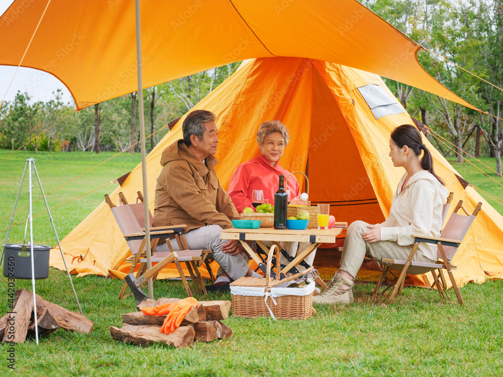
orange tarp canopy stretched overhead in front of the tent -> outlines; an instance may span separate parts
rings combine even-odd
[[[0,18],[0,64],[22,61],[49,72],[77,110],[137,90],[134,2],[46,5],[17,0]],[[238,60],[297,56],[389,77],[473,109],[421,67],[420,45],[356,0],[143,0],[140,10],[144,87]]]

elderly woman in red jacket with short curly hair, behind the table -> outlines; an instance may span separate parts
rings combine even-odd
[[[245,207],[252,207],[251,193],[254,190],[262,190],[264,198],[274,204],[274,193],[278,190],[280,174],[283,174],[285,178],[290,174],[279,164],[289,139],[288,130],[280,121],[267,121],[260,125],[257,142],[261,154],[239,165],[229,182],[228,193],[239,213],[242,213]],[[290,175],[285,189],[290,190],[291,198],[300,194],[299,182],[295,176]],[[297,253],[298,242],[281,242],[280,244],[290,255],[295,256]],[[300,245],[301,249],[306,246],[307,244],[304,245],[304,243]],[[307,263],[312,264],[315,251],[305,259]],[[286,262],[286,259],[282,258],[282,263]]]

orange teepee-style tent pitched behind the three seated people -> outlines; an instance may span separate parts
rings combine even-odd
[[[219,144],[217,173],[227,187],[235,167],[256,157],[256,132],[266,120],[278,119],[290,130],[290,143],[281,164],[290,171],[305,171],[310,200],[330,203],[340,221],[381,222],[389,214],[391,198],[403,169],[388,157],[389,135],[394,127],[412,120],[382,79],[368,72],[304,58],[262,58],[244,62],[239,69],[203,99],[195,109],[217,114]],[[162,150],[182,137],[184,117],[147,156],[149,207],[153,211],[155,178]],[[463,188],[456,171],[432,150],[435,170],[446,181],[454,200],[468,208],[482,202],[454,263],[459,285],[503,273],[503,218],[471,187]],[[302,180],[299,177],[299,180]],[[111,195],[117,201],[141,190],[138,165]],[[102,203],[61,242],[66,262],[80,274],[107,274],[119,266],[126,271],[129,251],[106,203]],[[86,255],[72,263],[73,256]],[[95,261],[95,262],[94,262]],[[51,265],[64,268],[58,250]],[[163,270],[164,276],[174,276]],[[422,284],[421,281],[416,281]]]

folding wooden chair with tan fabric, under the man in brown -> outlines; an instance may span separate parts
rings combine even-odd
[[[137,264],[140,263],[138,272],[136,274],[136,281],[143,284],[147,279],[153,277],[155,280],[157,273],[167,264],[174,262],[177,270],[182,279],[182,283],[187,292],[188,296],[192,296],[189,285],[185,278],[185,274],[180,266],[180,262],[186,262],[187,269],[192,277],[194,287],[196,291],[200,294],[206,294],[206,288],[203,284],[201,274],[198,269],[196,261],[206,262],[208,253],[211,250],[190,250],[187,246],[185,238],[183,238],[183,228],[185,225],[169,226],[169,227],[150,227],[150,239],[151,239],[151,261],[156,263],[151,269],[147,269],[147,259],[145,253],[145,228],[144,226],[144,213],[143,213],[143,196],[138,192],[138,197],[136,198],[136,203],[128,204],[126,198],[122,193],[119,193],[119,206],[115,206],[108,195],[105,195],[105,200],[109,205],[115,220],[117,221],[119,228],[122,231],[124,238],[126,238],[129,249],[131,250],[132,256],[126,259],[131,262],[129,273],[133,273]],[[140,202],[138,203],[138,200]],[[152,215],[149,212],[149,223],[152,224]],[[160,238],[167,239],[167,245],[169,246],[169,251],[155,251]],[[171,245],[170,238],[177,239],[181,251],[175,252],[173,246]],[[115,267],[117,268],[117,267]],[[195,273],[193,271],[195,270]],[[127,283],[124,284],[122,290],[119,294],[119,299],[124,297],[127,289]]]

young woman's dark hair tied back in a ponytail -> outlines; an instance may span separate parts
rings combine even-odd
[[[433,157],[432,153],[428,150],[425,144],[423,144],[423,139],[421,138],[420,131],[409,124],[402,124],[396,127],[391,133],[391,139],[398,146],[398,148],[403,148],[404,145],[409,147],[416,156],[424,152],[423,158],[421,159],[421,167],[428,170],[432,175],[438,179],[440,183],[445,185],[444,180],[435,174],[433,169]]]

